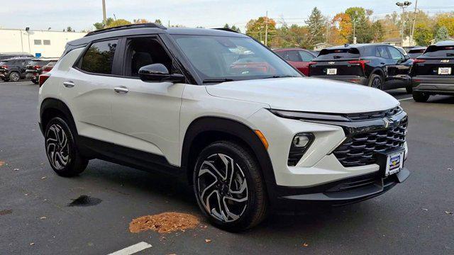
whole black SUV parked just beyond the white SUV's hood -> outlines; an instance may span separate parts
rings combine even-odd
[[[410,87],[411,60],[397,48],[382,44],[358,44],[321,50],[309,64],[309,76],[348,81],[376,89]]]

